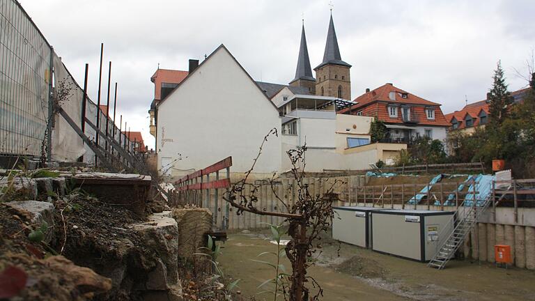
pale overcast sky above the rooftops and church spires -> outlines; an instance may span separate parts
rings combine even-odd
[[[118,82],[119,114],[148,146],[150,76],[160,68],[187,70],[226,45],[251,77],[288,83],[295,75],[301,20],[311,65],[323,59],[329,1],[22,0],[79,84],[89,63],[96,102],[100,43]],[[534,0],[334,0],[342,59],[352,65],[352,98],[392,82],[439,102],[449,113],[485,98],[502,60],[510,91],[527,86],[526,60],[535,48]],[[105,92],[102,93],[105,100]],[[208,108],[207,108],[208,109]]]

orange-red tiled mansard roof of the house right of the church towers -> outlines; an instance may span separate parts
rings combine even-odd
[[[396,93],[396,100],[390,100],[389,93]],[[406,98],[402,96],[406,95]],[[398,117],[392,118],[388,113],[388,105],[410,105],[411,118],[413,121],[417,121],[418,125],[435,125],[435,126],[450,126],[451,124],[444,118],[440,104],[431,102],[420,98],[417,95],[403,91],[401,88],[397,88],[392,84],[384,84],[379,88],[375,88],[372,91],[366,92],[359,97],[355,98],[357,105],[353,105],[351,108],[342,109],[339,113],[357,114],[362,111],[362,116],[377,116],[380,121],[385,123],[404,123],[401,111],[398,111]],[[426,115],[426,108],[432,107],[435,109],[435,119],[428,119]]]

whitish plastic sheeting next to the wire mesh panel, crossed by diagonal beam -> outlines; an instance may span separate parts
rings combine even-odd
[[[59,105],[72,118],[73,121],[82,127],[82,91],[72,79],[61,59],[54,53],[54,84],[55,88],[64,87],[68,91],[67,99]],[[52,159],[60,162],[74,162],[84,155],[84,142],[82,138],[65,121],[65,118],[56,114],[54,118],[54,128],[52,130]]]

